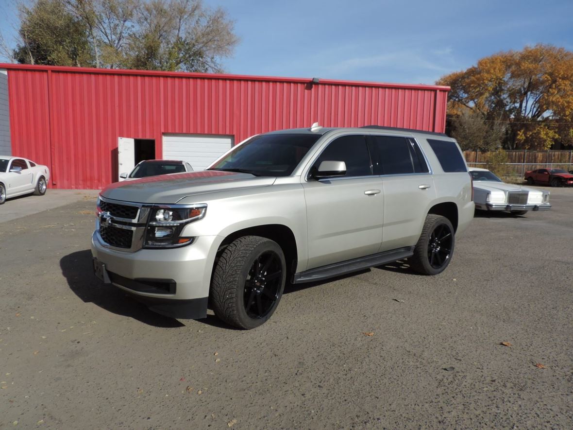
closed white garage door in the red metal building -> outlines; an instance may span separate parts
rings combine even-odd
[[[233,136],[164,134],[163,159],[183,160],[193,170],[205,170],[233,146]]]

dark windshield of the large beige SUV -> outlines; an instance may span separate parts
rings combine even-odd
[[[264,134],[238,146],[209,170],[289,176],[320,138],[316,134]]]

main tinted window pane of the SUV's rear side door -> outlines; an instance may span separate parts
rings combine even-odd
[[[381,166],[376,174],[397,175],[414,173],[410,142],[397,136],[370,136],[374,151],[378,153]]]

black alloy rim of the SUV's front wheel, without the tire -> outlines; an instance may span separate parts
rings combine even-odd
[[[245,311],[250,318],[260,319],[269,314],[278,300],[281,280],[281,259],[276,252],[264,252],[253,261],[243,294]]]

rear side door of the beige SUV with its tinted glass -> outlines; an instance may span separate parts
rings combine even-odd
[[[374,173],[384,190],[379,251],[415,245],[436,195],[426,159],[418,143],[406,136],[371,135],[368,140]]]

